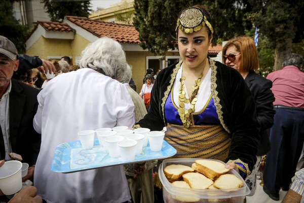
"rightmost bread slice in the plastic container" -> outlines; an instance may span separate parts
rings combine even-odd
[[[234,189],[242,187],[243,181],[234,174],[224,174],[214,181],[213,185],[218,189]]]

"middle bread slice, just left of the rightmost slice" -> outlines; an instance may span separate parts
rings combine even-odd
[[[213,184],[212,180],[200,173],[186,173],[182,175],[182,179],[193,189],[208,189]]]

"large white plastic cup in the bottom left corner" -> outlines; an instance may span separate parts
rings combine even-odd
[[[0,189],[5,195],[15,194],[22,188],[22,163],[17,160],[6,161],[0,167]]]

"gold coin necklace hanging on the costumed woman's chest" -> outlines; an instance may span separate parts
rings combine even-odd
[[[206,65],[205,65],[206,66]],[[199,77],[196,79],[194,86],[192,87],[192,94],[191,97],[186,98],[185,96],[185,90],[184,90],[184,84],[185,84],[185,77],[182,75],[181,72],[181,78],[180,78],[180,88],[178,89],[178,115],[180,116],[181,122],[182,124],[188,128],[190,125],[193,125],[194,123],[191,122],[191,118],[190,118],[190,114],[194,113],[195,111],[195,104],[198,100],[198,98],[196,98],[196,95],[199,92],[200,89],[200,85],[202,84],[201,79],[203,77],[203,72],[205,70],[205,66],[204,69],[202,71],[202,73],[199,75]],[[188,110],[185,110],[185,104],[189,104],[190,103],[190,108]]]

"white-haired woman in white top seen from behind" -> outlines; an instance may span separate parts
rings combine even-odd
[[[79,131],[134,124],[134,104],[118,82],[130,69],[122,46],[101,38],[82,55],[80,70],[58,75],[37,96],[34,128],[42,143],[34,185],[47,202],[126,202],[131,196],[122,165],[70,174],[50,169],[56,146],[78,140]],[[145,167],[137,164],[136,172]]]

